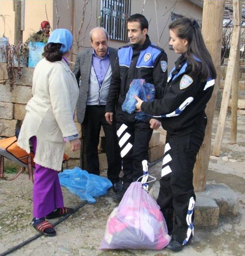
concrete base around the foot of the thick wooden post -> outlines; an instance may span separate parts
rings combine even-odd
[[[159,182],[155,182],[149,194],[157,200]],[[219,217],[236,216],[238,212],[237,195],[225,184],[207,184],[203,192],[196,192],[195,219],[196,227],[214,227],[219,224]]]

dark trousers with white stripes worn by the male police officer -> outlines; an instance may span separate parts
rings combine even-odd
[[[149,122],[137,121],[121,109],[117,112],[116,121],[123,159],[123,182],[129,185],[143,175],[142,161],[149,161],[148,148],[153,130]]]

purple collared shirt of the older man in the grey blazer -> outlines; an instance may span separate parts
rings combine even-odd
[[[99,85],[103,83],[103,80],[106,76],[107,70],[110,65],[109,59],[109,48],[106,55],[103,58],[100,58],[96,55],[95,50],[93,50],[92,64],[95,70],[96,77],[98,79]]]

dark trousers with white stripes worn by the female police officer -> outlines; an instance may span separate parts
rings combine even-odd
[[[203,142],[206,119],[194,132],[176,137],[167,134],[163,155],[162,178],[157,203],[167,222],[172,239],[187,243],[193,236],[193,168]],[[173,212],[175,220],[173,223]]]

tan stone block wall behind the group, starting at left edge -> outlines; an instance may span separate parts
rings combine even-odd
[[[13,89],[7,74],[7,63],[0,63],[0,139],[15,135],[16,129],[21,126],[25,115],[26,103],[31,98],[31,86],[33,68],[21,68],[22,76],[15,78]],[[16,70],[17,73],[17,70]],[[75,124],[79,132],[79,138],[82,138],[81,125],[75,117]],[[150,162],[153,162],[163,156],[163,147],[165,144],[165,132],[163,130],[154,130],[149,145]],[[100,143],[98,145],[100,168],[107,168],[105,154],[105,134],[101,127]],[[70,144],[67,143],[65,153],[69,155],[68,167],[80,166],[80,150],[70,151]]]

